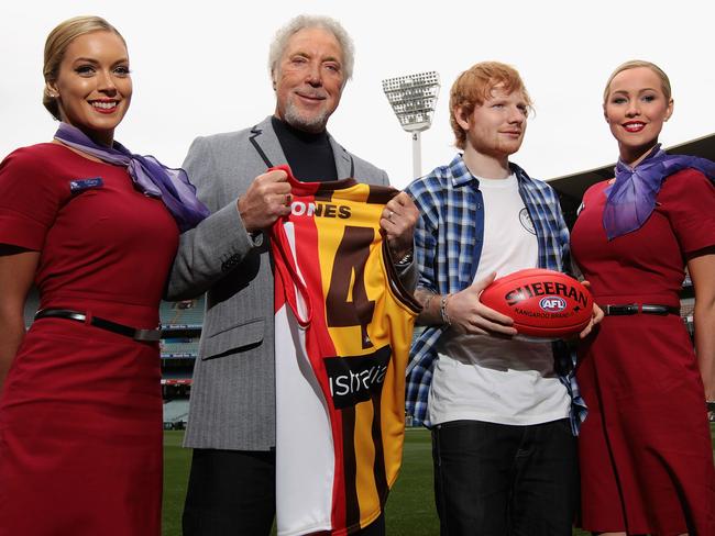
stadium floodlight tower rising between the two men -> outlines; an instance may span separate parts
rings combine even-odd
[[[402,127],[413,135],[413,175],[422,175],[420,134],[432,125],[439,96],[439,75],[435,70],[383,80],[383,91]]]

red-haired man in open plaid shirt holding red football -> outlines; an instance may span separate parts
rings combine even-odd
[[[569,232],[553,190],[509,157],[531,105],[519,74],[490,62],[454,82],[450,120],[462,150],[407,189],[417,298],[407,410],[432,431],[442,535],[570,535],[578,503],[574,431],[583,416],[568,351],[515,338],[480,303],[495,276],[563,271]]]

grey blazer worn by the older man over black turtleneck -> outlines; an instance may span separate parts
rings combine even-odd
[[[387,174],[330,137],[339,178],[387,185]],[[267,450],[275,445],[273,273],[268,241],[255,241],[237,200],[286,158],[271,118],[252,129],[197,138],[184,168],[211,215],[184,233],[167,299],[207,292],[185,446]]]

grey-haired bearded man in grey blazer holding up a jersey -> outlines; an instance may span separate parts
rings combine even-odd
[[[184,168],[211,216],[182,236],[168,299],[207,292],[185,446],[194,448],[185,536],[267,535],[275,514],[273,273],[262,230],[289,213],[289,164],[299,179],[388,183],[326,131],[352,74],[352,43],[329,18],[298,16],[271,47],[276,110],[250,129],[199,137]],[[400,193],[384,228],[410,279],[418,213]],[[405,268],[407,267],[407,268]],[[409,284],[409,281],[408,281]],[[384,521],[363,531],[383,534]]]

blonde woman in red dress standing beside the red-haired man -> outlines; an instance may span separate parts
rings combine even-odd
[[[668,76],[649,62],[614,71],[603,111],[618,143],[616,177],[586,191],[571,235],[605,313],[579,348],[588,405],[579,438],[581,525],[713,536],[715,164],[660,148],[673,99]],[[680,317],[685,269],[694,348]]]

